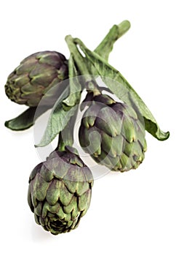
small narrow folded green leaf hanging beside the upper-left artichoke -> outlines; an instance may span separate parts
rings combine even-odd
[[[76,70],[73,56],[71,55],[68,60],[68,76],[69,76],[69,84],[70,84],[70,94],[69,96],[63,100],[63,104],[68,107],[73,107],[78,104],[81,97],[81,83],[79,82],[79,74]],[[64,108],[65,108],[64,106]]]

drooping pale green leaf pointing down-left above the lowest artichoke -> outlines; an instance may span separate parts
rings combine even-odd
[[[63,91],[63,94],[60,95],[60,98],[55,103],[52,113],[49,117],[47,128],[44,132],[41,141],[36,147],[47,146],[49,143],[54,140],[56,135],[58,135],[68,124],[68,121],[71,119],[71,116],[74,115],[77,106],[71,108],[70,110],[64,110],[63,108],[63,99],[68,96],[69,88],[66,88]]]

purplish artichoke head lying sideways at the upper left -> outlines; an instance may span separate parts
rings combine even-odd
[[[56,51],[41,51],[28,56],[8,76],[7,97],[18,104],[36,107],[44,94],[68,78],[68,61]]]

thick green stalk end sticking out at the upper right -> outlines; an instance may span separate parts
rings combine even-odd
[[[109,53],[111,53],[111,50],[113,50],[114,42],[116,42],[117,39],[122,37],[123,34],[125,34],[130,29],[130,21],[124,20],[119,25],[114,25],[106,37],[103,39],[102,42],[100,42],[100,45],[98,45],[97,48],[95,48],[95,53],[98,53],[103,59],[106,59],[108,61]]]

